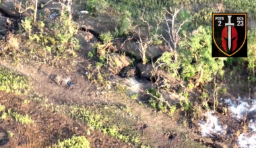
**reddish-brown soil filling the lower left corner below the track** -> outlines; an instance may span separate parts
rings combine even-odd
[[[90,147],[132,147],[98,131],[88,135],[88,128],[76,120],[46,110],[34,102],[22,104],[24,100],[26,98],[21,96],[0,92],[0,104],[20,114],[28,114],[34,120],[34,124],[26,125],[12,118],[1,119],[1,147],[50,147],[73,135],[84,135],[90,141]],[[7,131],[13,133],[13,137],[8,138]]]

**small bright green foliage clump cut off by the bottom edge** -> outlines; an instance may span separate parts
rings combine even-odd
[[[65,139],[64,141],[59,141],[58,145],[53,145],[50,148],[90,148],[90,142],[84,136],[75,136],[71,139]]]

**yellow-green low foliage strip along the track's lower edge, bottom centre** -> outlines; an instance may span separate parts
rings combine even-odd
[[[68,109],[65,108],[62,112],[67,112],[67,114],[73,118],[82,120],[90,128],[101,130],[103,133],[120,139],[121,141],[135,143],[135,145],[139,144],[137,133],[134,133],[134,131],[125,126],[117,126],[117,124],[122,125],[124,124],[123,122],[127,122],[127,118],[125,118],[124,121],[121,120],[123,111],[121,112],[122,115],[120,115],[119,108],[102,108],[102,112],[100,110],[101,109],[98,108],[98,110],[92,111],[84,106],[69,106]],[[122,122],[122,124],[117,122]]]

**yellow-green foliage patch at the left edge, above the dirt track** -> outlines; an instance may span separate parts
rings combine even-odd
[[[0,67],[0,91],[14,94],[26,94],[31,83],[28,77]]]

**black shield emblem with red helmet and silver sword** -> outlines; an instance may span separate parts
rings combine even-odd
[[[212,13],[212,57],[247,57],[247,13]]]

